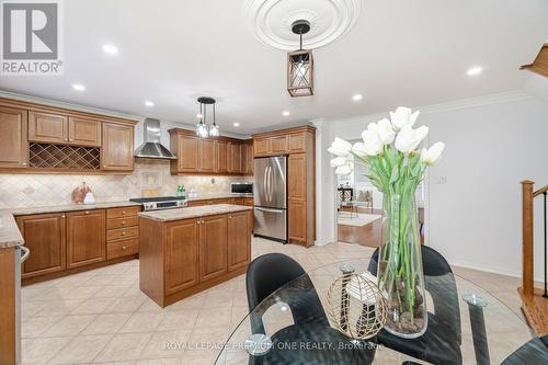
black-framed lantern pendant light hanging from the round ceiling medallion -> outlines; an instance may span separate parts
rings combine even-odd
[[[310,31],[310,23],[298,20],[292,24],[292,31],[300,37],[298,50],[287,54],[287,91],[292,98],[313,95],[312,50],[302,49],[302,34]]]

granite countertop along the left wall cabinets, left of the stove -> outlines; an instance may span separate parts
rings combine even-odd
[[[91,209],[106,209],[123,206],[140,206],[139,203],[129,201],[125,202],[109,202],[96,203],[88,205],[54,205],[54,206],[38,206],[30,208],[5,208],[0,209],[0,249],[10,248],[18,244],[24,244],[23,237],[19,231],[18,224],[14,216],[23,216],[30,214],[44,214],[44,213],[60,213],[60,212],[76,212],[76,210],[91,210]]]

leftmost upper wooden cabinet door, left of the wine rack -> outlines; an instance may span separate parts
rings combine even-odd
[[[0,168],[26,168],[26,116],[25,110],[0,106]]]

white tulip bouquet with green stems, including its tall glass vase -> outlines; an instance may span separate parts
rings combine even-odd
[[[385,196],[388,219],[377,276],[389,306],[385,328],[404,338],[421,335],[427,324],[414,195],[424,171],[439,161],[445,148],[438,141],[421,150],[429,128],[413,128],[419,114],[400,106],[390,112],[390,119],[370,123],[362,133],[363,141],[352,145],[335,138],[329,148],[336,174],[350,174],[354,162],[364,163],[366,176]]]

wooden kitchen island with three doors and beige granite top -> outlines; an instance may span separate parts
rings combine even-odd
[[[160,307],[246,272],[252,208],[216,204],[139,213],[139,286]]]

